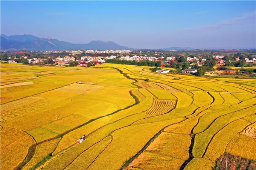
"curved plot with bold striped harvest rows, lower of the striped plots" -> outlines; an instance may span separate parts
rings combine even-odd
[[[146,111],[146,117],[158,116],[161,114],[168,113],[175,106],[175,100],[158,100],[155,99],[151,108]]]

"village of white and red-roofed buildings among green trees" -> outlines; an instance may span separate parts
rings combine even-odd
[[[30,55],[32,53],[33,55]],[[44,51],[40,55],[34,55],[38,52],[15,52],[8,56],[6,62],[10,64],[23,63],[29,65],[52,65],[52,66],[84,66],[90,67],[104,63],[119,63],[128,65],[142,65],[151,63],[148,66],[156,66],[154,72],[169,73],[170,68],[176,69],[179,74],[194,74],[202,76],[216,76],[221,74],[238,73],[235,67],[255,66],[255,55],[246,57],[244,54],[233,54],[232,57],[227,55],[210,55],[204,53],[190,54],[176,51],[176,53],[166,51],[132,51],[132,50],[77,50],[77,51]],[[50,56],[49,54],[53,55]],[[59,54],[59,55],[58,55]],[[61,55],[64,54],[64,55]],[[37,57],[33,57],[37,56]],[[227,66],[227,67],[226,67]],[[231,66],[230,69],[229,66]],[[233,66],[233,67],[232,67]],[[213,69],[215,67],[215,69]],[[160,69],[161,68],[161,69]],[[203,68],[200,70],[200,68]],[[216,68],[222,71],[217,71]],[[241,71],[240,71],[241,72]],[[250,71],[251,72],[251,71]],[[254,72],[254,71],[253,71]],[[253,73],[251,72],[251,73]],[[173,73],[173,72],[172,72]]]

